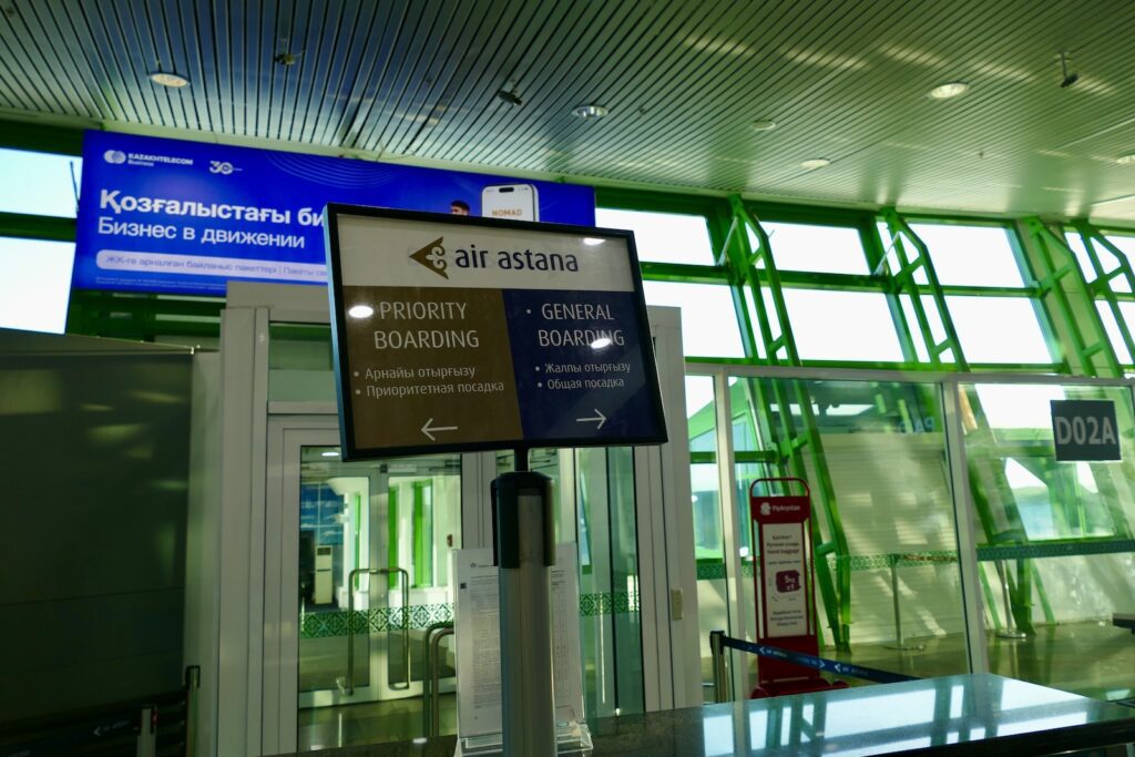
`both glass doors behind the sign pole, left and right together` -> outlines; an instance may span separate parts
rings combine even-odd
[[[280,481],[284,598],[279,716],[264,727],[280,734],[280,749],[299,751],[424,735],[426,645],[432,629],[453,620],[451,553],[491,545],[489,482],[512,470],[512,453],[346,463],[334,417],[294,422],[309,427],[279,419],[270,430],[278,439],[269,470]],[[578,545],[587,717],[644,712],[651,673],[640,606],[650,602],[644,591],[651,581],[639,569],[646,527],[636,496],[645,474],[636,454],[539,449],[530,464],[553,479],[556,540]],[[456,732],[454,650],[452,638],[442,642],[443,734]],[[269,663],[266,656],[266,670]]]

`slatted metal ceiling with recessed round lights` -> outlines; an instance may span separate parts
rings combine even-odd
[[[1135,3],[1117,0],[0,0],[0,109],[502,173],[1135,219],[1135,166],[1116,162],[1135,152],[1133,36]],[[948,81],[970,91],[926,96]],[[585,103],[609,115],[571,115]],[[800,167],[817,157],[832,165]]]

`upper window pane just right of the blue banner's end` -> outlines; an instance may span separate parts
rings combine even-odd
[[[595,222],[634,232],[641,261],[713,266],[713,244],[701,216],[596,208]]]

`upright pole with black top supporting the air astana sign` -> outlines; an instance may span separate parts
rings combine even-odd
[[[501,586],[501,682],[505,757],[556,754],[550,566],[555,564],[552,479],[528,470],[493,481],[493,548]]]

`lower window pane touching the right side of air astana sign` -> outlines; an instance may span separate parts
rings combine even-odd
[[[646,302],[682,309],[682,353],[689,358],[743,358],[733,292],[725,284],[642,281]]]

